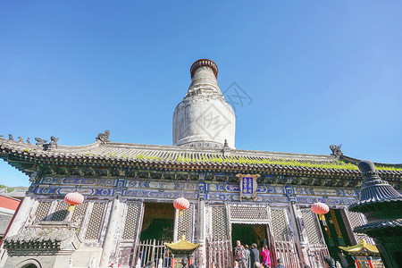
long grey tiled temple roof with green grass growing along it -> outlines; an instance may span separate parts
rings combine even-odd
[[[53,137],[54,138],[54,137]],[[46,141],[45,141],[46,142]],[[50,143],[51,144],[51,143]],[[28,144],[0,138],[0,157],[21,172],[34,172],[26,163],[86,163],[153,166],[183,170],[250,170],[338,177],[361,177],[353,163],[334,155],[310,155],[230,149],[228,147],[176,147],[110,142],[96,139],[84,146]],[[380,170],[386,178],[401,178],[402,171]]]

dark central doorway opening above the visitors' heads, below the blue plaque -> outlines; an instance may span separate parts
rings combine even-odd
[[[253,243],[257,244],[258,248],[262,248],[268,244],[268,224],[231,224],[231,243],[236,247],[236,241],[240,240],[241,245],[251,248]]]

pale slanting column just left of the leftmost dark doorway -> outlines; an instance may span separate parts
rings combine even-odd
[[[107,225],[107,230],[106,230],[105,240],[104,240],[104,247],[102,250],[99,267],[103,267],[103,266],[106,267],[109,264],[109,258],[110,258],[110,255],[112,252],[112,246],[113,246],[113,239],[116,235],[116,228],[118,226],[117,223],[120,220],[120,217],[119,217],[120,209],[121,209],[121,201],[120,201],[120,197],[117,196],[113,200],[112,212],[110,214],[109,224]]]

